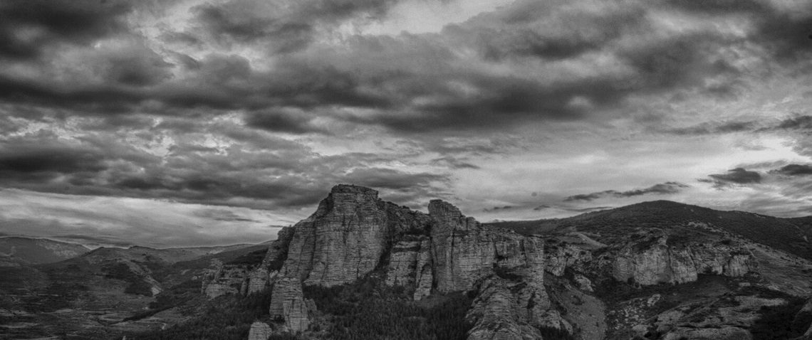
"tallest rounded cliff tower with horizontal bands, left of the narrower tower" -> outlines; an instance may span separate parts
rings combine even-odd
[[[294,226],[284,277],[335,286],[363,277],[378,265],[393,235],[421,230],[428,218],[378,199],[378,192],[333,187],[316,213]]]

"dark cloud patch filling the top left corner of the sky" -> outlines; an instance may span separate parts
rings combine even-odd
[[[0,56],[37,58],[57,42],[88,44],[126,30],[123,1],[30,0],[0,3]]]

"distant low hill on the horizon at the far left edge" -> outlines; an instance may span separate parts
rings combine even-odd
[[[0,266],[38,265],[58,262],[89,252],[81,244],[30,239],[25,237],[0,238]]]

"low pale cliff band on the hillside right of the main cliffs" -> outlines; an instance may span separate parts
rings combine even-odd
[[[655,285],[693,282],[699,273],[741,277],[754,269],[752,256],[738,247],[702,244],[672,247],[667,245],[667,236],[663,236],[645,249],[638,248],[638,244],[628,244],[620,250],[612,263],[612,277]]]

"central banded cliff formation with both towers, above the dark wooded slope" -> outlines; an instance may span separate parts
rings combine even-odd
[[[517,314],[516,325],[560,327],[562,323],[549,311],[542,239],[487,228],[442,200],[432,200],[425,214],[384,202],[372,189],[339,185],[316,213],[283,234],[280,239],[289,239],[287,250],[269,252],[266,257],[285,257],[271,279],[275,283],[270,309],[291,330],[307,328],[304,320],[309,316],[297,307],[304,306],[301,286],[342,285],[373,272],[380,273],[387,285],[403,286],[416,300],[433,291],[480,291],[480,286],[494,286],[482,280],[506,280],[500,276],[508,281],[520,278],[509,285],[512,289],[497,285],[490,290],[498,290],[496,296],[509,295],[512,306],[525,306]],[[252,281],[254,276],[265,278],[266,271],[271,275],[269,268],[264,263],[252,274]],[[491,300],[480,299],[480,305]],[[283,310],[286,303],[294,313]],[[472,313],[469,320],[487,328],[492,320],[487,315]]]

